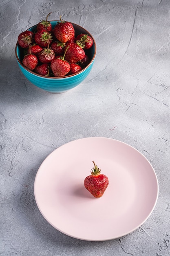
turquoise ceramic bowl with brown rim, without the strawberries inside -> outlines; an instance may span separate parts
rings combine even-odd
[[[57,24],[57,20],[50,21],[52,28],[55,27]],[[78,34],[88,34],[93,38],[93,36],[83,27],[80,27],[79,25],[76,25],[74,23],[73,27],[75,29],[75,36]],[[31,30],[35,32],[36,25],[29,28],[28,30]],[[42,90],[45,90],[47,92],[53,92],[53,93],[61,93],[61,92],[66,92],[75,86],[79,85],[82,83],[82,81],[88,76],[89,72],[91,71],[93,67],[93,63],[95,60],[95,55],[96,55],[96,43],[93,38],[93,46],[88,49],[88,53],[86,53],[90,59],[90,63],[84,69],[79,71],[76,74],[72,74],[69,76],[64,76],[64,77],[46,77],[46,76],[41,76],[39,74],[34,73],[33,71],[27,69],[23,64],[22,64],[22,58],[23,58],[23,49],[16,44],[15,47],[15,55],[17,58],[18,65],[20,67],[20,70],[26,76],[26,78],[33,83],[34,85],[38,86]]]

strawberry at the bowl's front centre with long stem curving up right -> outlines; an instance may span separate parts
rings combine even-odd
[[[66,48],[67,51],[68,48]],[[66,51],[63,57],[54,58],[51,61],[51,70],[56,77],[66,76],[70,72],[70,64],[64,60]]]

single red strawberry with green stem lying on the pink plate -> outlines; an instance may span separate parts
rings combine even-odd
[[[108,187],[108,177],[100,173],[101,170],[95,165],[95,162],[93,164],[91,175],[85,178],[84,186],[95,198],[100,198]]]

